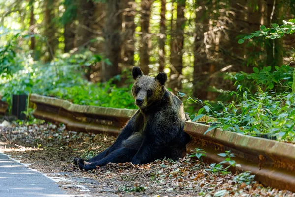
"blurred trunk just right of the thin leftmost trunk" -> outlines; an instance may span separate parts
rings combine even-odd
[[[50,62],[54,58],[55,47],[57,45],[55,33],[56,25],[54,22],[54,7],[55,0],[44,0],[44,25],[45,32],[44,35],[47,38],[46,40],[46,58],[45,62]]]

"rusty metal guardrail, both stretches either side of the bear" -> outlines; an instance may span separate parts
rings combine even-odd
[[[69,101],[32,94],[36,105],[33,115],[51,122],[64,123],[69,130],[118,134],[136,110],[82,106]],[[256,180],[266,186],[295,192],[295,144],[246,136],[215,129],[206,135],[209,126],[186,122],[184,131],[191,135],[187,152],[203,148],[207,163],[219,163],[225,158],[217,153],[230,150],[241,167],[232,170],[251,171]]]

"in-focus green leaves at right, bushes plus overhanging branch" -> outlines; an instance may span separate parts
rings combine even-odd
[[[262,31],[266,32],[262,35],[269,35],[270,39],[276,39],[281,38],[282,33],[294,33],[294,22],[293,19],[284,22],[282,26],[273,24],[274,28],[267,30],[262,27]],[[267,33],[268,31],[270,33]],[[244,39],[251,39],[253,36],[262,36],[259,33],[261,31],[252,33],[251,36],[246,36],[239,41],[243,42]],[[223,92],[230,96],[235,95],[237,101],[229,104],[218,102],[221,111],[214,109],[208,102],[189,97],[187,101],[201,105],[194,120],[204,116],[204,112],[205,115],[208,113],[217,119],[204,134],[215,128],[222,128],[237,133],[295,142],[295,94],[293,91],[291,93],[291,86],[293,90],[295,89],[292,78],[294,68],[283,65],[275,66],[275,70],[272,70],[271,66],[264,66],[262,69],[254,67],[253,71],[254,73],[240,72],[233,76],[237,91]],[[254,84],[256,93],[252,93],[250,86],[243,87],[242,84],[247,84],[247,80]]]

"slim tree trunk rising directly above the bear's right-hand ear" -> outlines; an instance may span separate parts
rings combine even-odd
[[[159,72],[165,68],[165,40],[166,40],[166,0],[161,0],[160,39],[159,39]]]

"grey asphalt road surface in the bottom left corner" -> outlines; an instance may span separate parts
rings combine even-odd
[[[0,197],[73,197],[58,184],[0,153]]]

